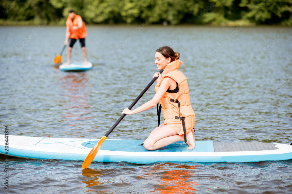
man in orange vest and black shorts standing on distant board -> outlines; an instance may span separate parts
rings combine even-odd
[[[70,64],[72,47],[74,43],[79,39],[82,47],[84,63],[87,64],[86,48],[85,48],[85,37],[87,35],[86,27],[80,15],[74,13],[74,10],[69,10],[69,16],[66,22],[66,38],[65,45],[68,44],[69,37],[71,38],[70,46],[68,49],[68,60],[67,64]]]

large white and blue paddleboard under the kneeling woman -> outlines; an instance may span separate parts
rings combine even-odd
[[[7,137],[7,136],[5,136]],[[84,161],[99,139],[48,138],[9,135],[8,141],[0,135],[0,152],[26,159],[61,159]],[[258,162],[292,159],[292,145],[260,142],[196,141],[193,150],[184,142],[176,142],[162,149],[148,151],[144,140],[106,139],[96,162]],[[5,143],[8,145],[5,145]],[[6,147],[5,147],[6,146]]]

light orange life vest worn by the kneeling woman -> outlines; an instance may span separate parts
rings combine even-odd
[[[171,122],[174,119],[180,119],[179,117],[184,117],[185,129],[186,133],[188,133],[195,125],[195,113],[192,109],[190,102],[190,93],[189,87],[187,85],[187,78],[181,71],[178,70],[181,63],[182,62],[180,60],[175,60],[165,67],[160,81],[155,86],[155,91],[158,91],[159,86],[161,85],[165,77],[170,77],[178,83],[178,92],[166,92],[159,102],[162,106],[164,124],[170,123],[171,127]],[[175,102],[176,100],[178,101]],[[178,108],[178,102],[180,102],[180,108]],[[179,135],[182,135],[184,134],[182,126],[183,125],[181,125],[181,129],[174,129],[173,127],[172,128]]]

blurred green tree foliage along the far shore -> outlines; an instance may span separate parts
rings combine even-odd
[[[87,24],[292,25],[292,0],[2,0],[0,24],[65,25],[69,9]]]

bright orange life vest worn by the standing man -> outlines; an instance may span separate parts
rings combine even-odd
[[[87,30],[86,30],[86,27],[85,27],[85,24],[83,21],[82,21],[82,28],[78,28],[76,30],[73,30],[73,26],[78,26],[78,19],[79,18],[81,18],[81,16],[77,15],[77,14],[75,14],[73,21],[72,21],[70,16],[68,16],[68,18],[67,18],[66,24],[69,27],[70,38],[73,38],[73,39],[85,38],[87,35]]]

